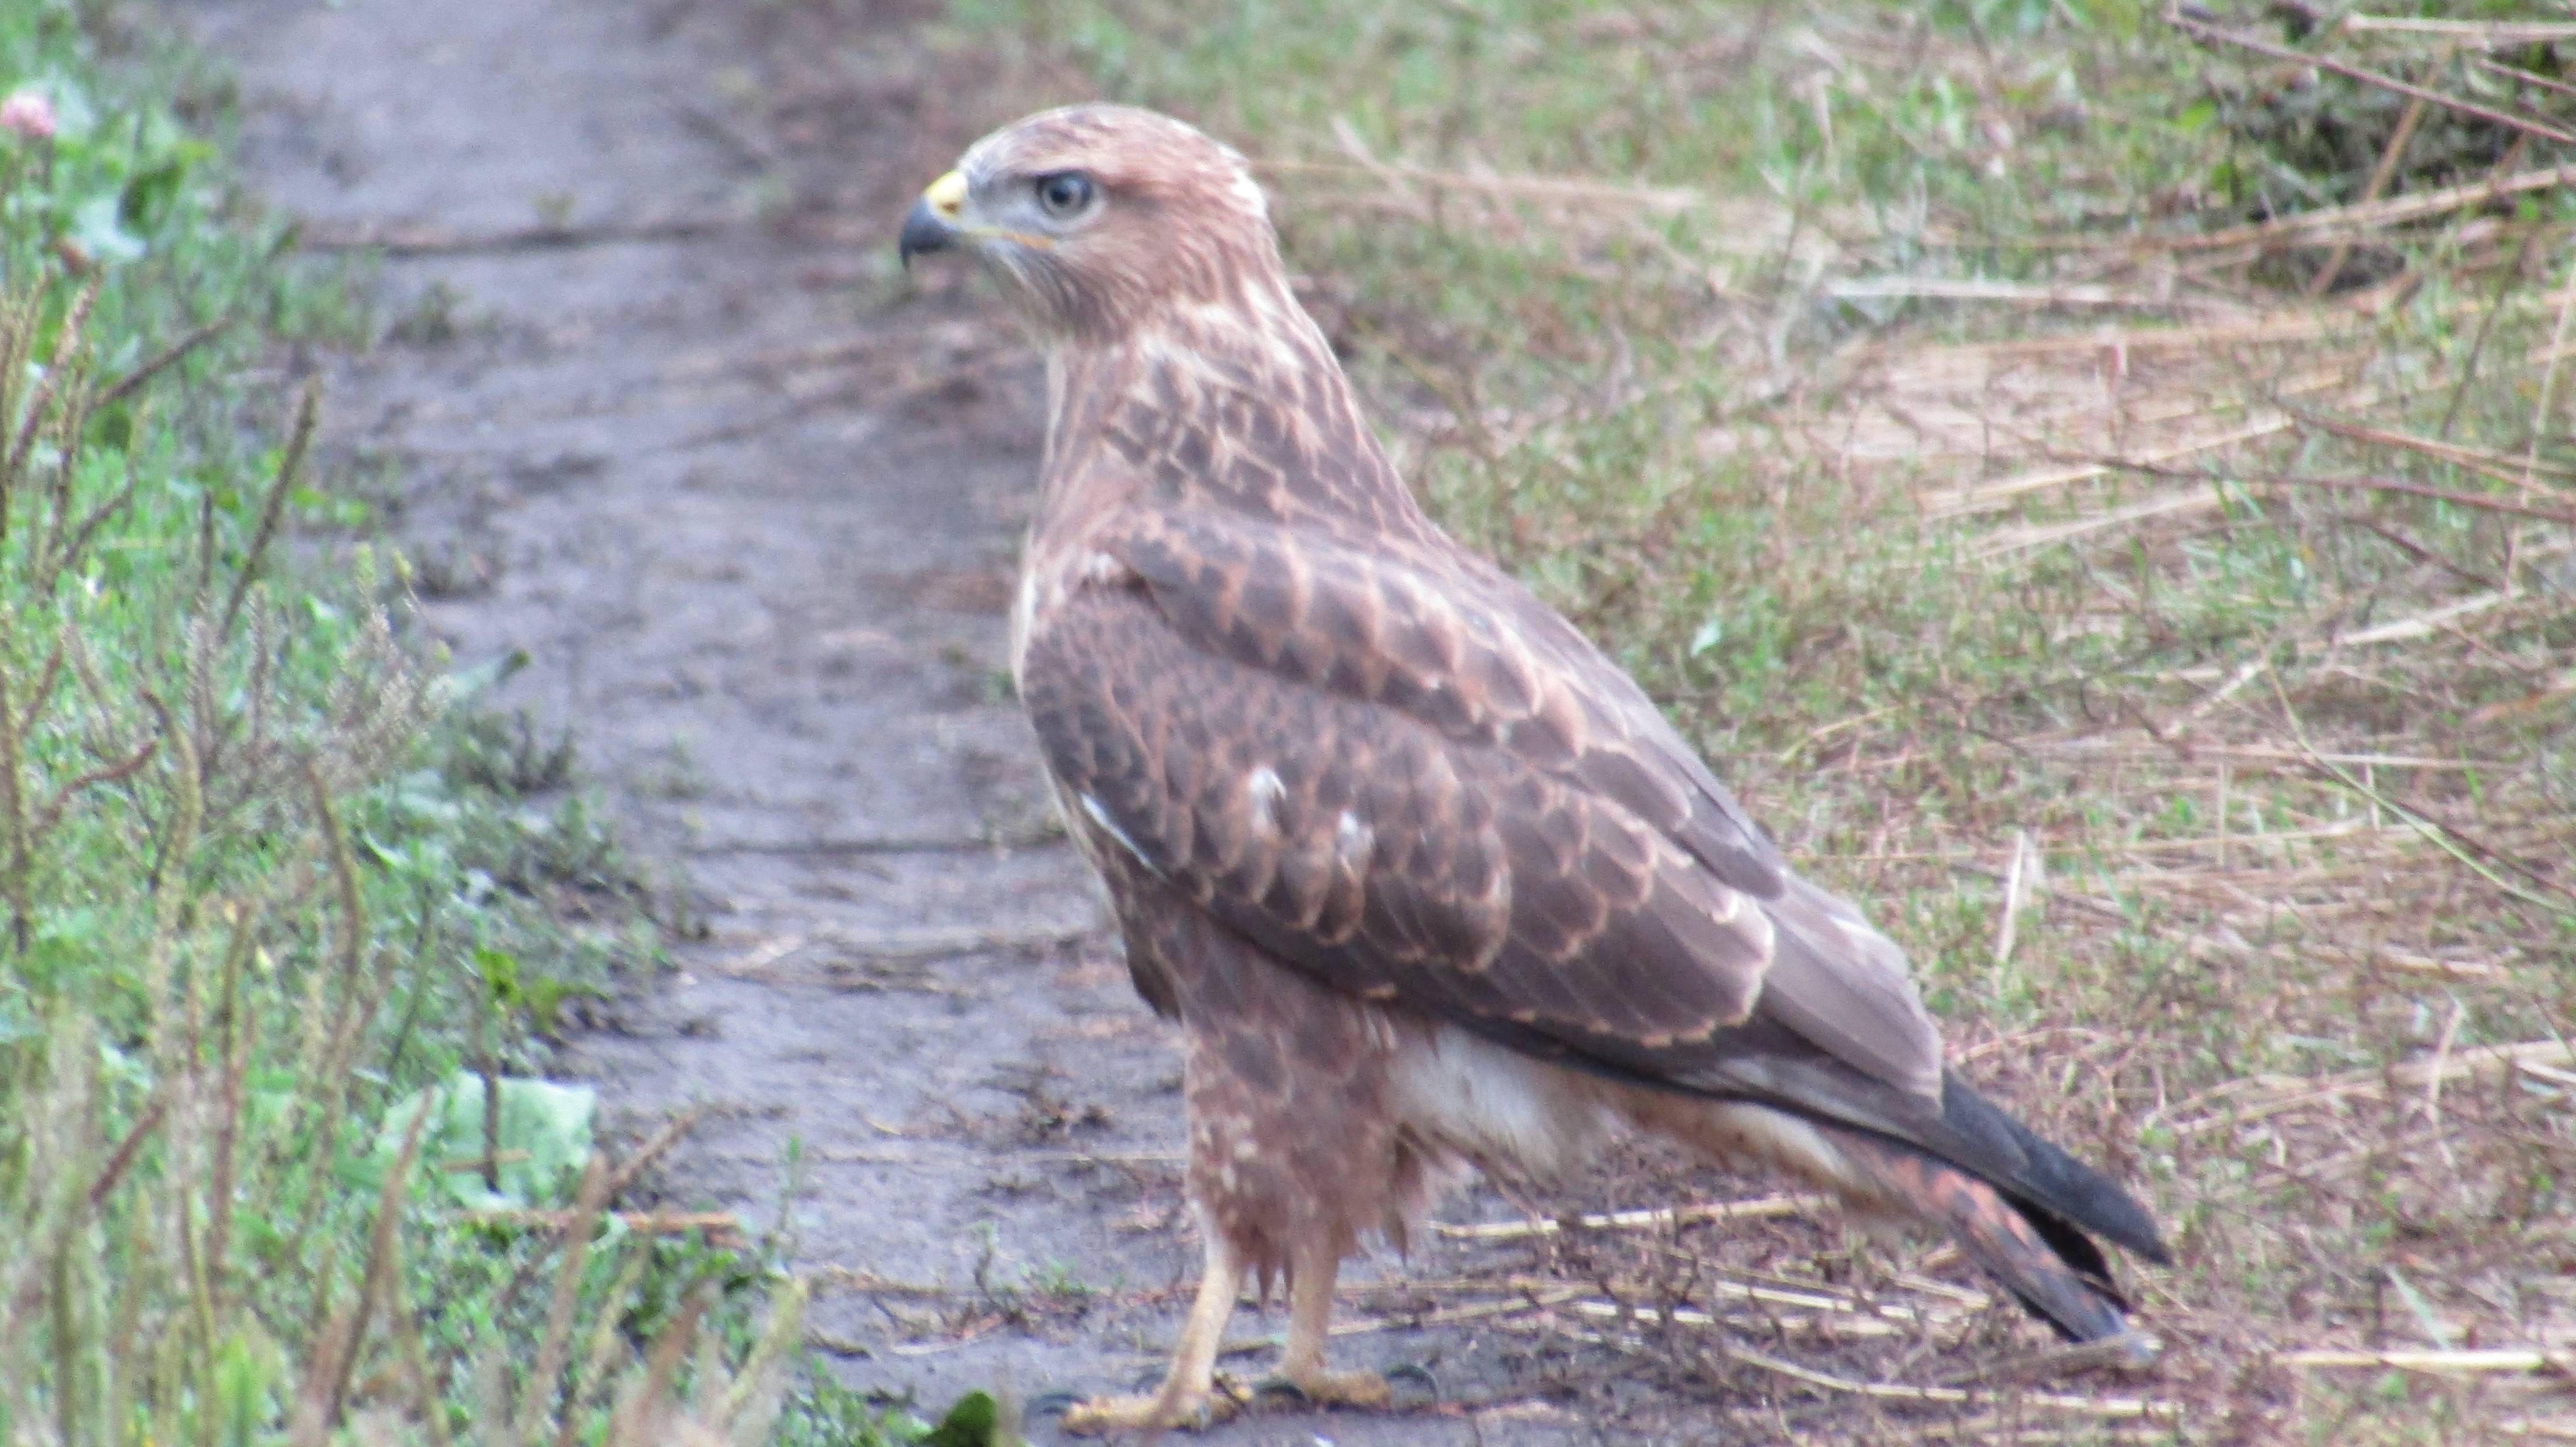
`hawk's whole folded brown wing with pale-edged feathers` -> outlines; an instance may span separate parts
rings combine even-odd
[[[1023,698],[1059,780],[1236,929],[1540,1053],[1759,1089],[1783,1061],[1728,1050],[1814,1048],[1940,1099],[1896,945],[1512,579],[1211,510],[1087,546],[1126,574],[1051,610]]]

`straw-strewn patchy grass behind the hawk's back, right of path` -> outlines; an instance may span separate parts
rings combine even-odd
[[[1435,512],[1899,932],[1973,1074],[2146,1184],[2148,1390],[2293,1439],[2540,1411],[2267,1352],[2576,1329],[2568,1061],[2473,1056],[2576,1017],[2576,201],[2298,227],[2576,152],[2427,108],[2372,191],[2401,95],[2117,0],[956,23],[1023,98],[1255,157]],[[2470,64],[2568,44],[2223,26],[2576,121]]]

